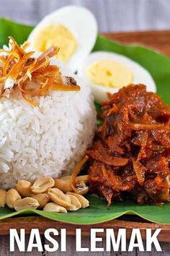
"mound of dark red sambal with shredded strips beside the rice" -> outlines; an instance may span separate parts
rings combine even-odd
[[[139,205],[170,201],[170,108],[145,85],[109,95],[89,155],[91,192]]]

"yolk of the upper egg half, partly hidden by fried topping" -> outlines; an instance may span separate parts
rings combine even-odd
[[[46,51],[50,46],[59,46],[60,51],[56,58],[63,62],[67,62],[71,58],[78,46],[74,35],[63,25],[43,27],[36,34],[33,44],[37,51]]]

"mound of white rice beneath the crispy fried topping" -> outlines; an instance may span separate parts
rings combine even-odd
[[[74,77],[79,92],[50,91],[38,107],[17,93],[0,99],[0,187],[71,174],[81,161],[94,137],[96,111],[89,85]]]

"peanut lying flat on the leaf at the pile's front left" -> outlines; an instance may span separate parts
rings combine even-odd
[[[14,202],[14,209],[17,210],[17,212],[19,210],[37,209],[39,206],[37,200],[32,197],[24,197],[23,199]]]

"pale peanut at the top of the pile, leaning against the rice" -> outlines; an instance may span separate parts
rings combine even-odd
[[[35,181],[31,187],[31,191],[35,194],[40,194],[47,191],[51,187],[54,187],[54,184],[55,182],[53,178],[45,176]]]

